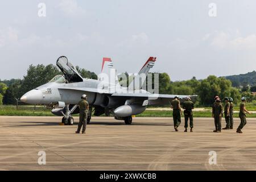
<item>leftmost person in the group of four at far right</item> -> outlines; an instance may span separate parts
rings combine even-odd
[[[222,104],[220,98],[217,98],[212,107],[212,117],[214,118],[215,130],[213,132],[221,132]]]

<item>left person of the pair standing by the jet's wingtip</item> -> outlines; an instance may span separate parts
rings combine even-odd
[[[181,122],[181,115],[182,115],[182,110],[180,107],[180,101],[179,101],[179,96],[175,96],[174,100],[171,102],[171,108],[173,109],[172,111],[172,117],[174,118],[174,129],[175,131],[179,131],[177,127],[180,126]]]

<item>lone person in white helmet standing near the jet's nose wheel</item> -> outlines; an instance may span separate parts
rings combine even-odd
[[[76,131],[77,134],[80,133],[81,127],[82,127],[82,134],[85,134],[85,129],[87,125],[87,116],[88,116],[87,113],[89,110],[89,104],[86,101],[86,95],[83,94],[81,99],[82,100],[79,102],[80,112],[79,112],[79,124]]]

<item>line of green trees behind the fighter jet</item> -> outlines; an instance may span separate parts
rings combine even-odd
[[[84,68],[76,67],[77,71],[84,78],[97,80],[94,72],[87,71]],[[46,84],[56,75],[61,75],[55,65],[30,65],[27,74],[22,79],[0,80],[0,104],[16,104],[16,99],[24,93],[40,85]],[[128,75],[127,73],[125,73]],[[154,74],[153,74],[154,75]],[[154,79],[154,78],[153,78]],[[154,82],[154,81],[153,81]],[[221,98],[232,97],[234,103],[240,102],[242,96],[247,97],[247,101],[255,100],[255,96],[250,89],[253,87],[236,88],[232,86],[232,81],[225,77],[208,76],[203,80],[197,80],[196,77],[185,81],[171,81],[167,73],[159,73],[159,93],[161,94],[179,94],[179,95],[198,95],[197,105],[210,106],[213,103],[214,96]]]

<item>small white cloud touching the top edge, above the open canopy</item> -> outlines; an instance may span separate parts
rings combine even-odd
[[[57,7],[68,16],[79,16],[85,13],[76,0],[62,0]]]

